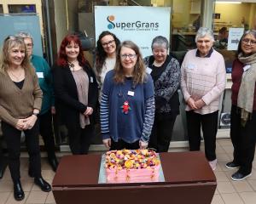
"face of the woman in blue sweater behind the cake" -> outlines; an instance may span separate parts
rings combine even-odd
[[[133,71],[137,62],[137,54],[131,48],[122,47],[120,50],[121,65],[125,71]]]

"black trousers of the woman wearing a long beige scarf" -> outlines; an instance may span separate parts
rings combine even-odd
[[[234,146],[234,162],[240,165],[239,172],[252,172],[256,143],[256,111],[245,127],[241,126],[241,112],[236,105],[231,107],[230,138]]]

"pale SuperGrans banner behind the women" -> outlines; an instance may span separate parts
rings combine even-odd
[[[96,6],[96,41],[102,31],[113,32],[119,40],[131,40],[143,57],[152,54],[151,42],[156,36],[170,37],[170,7]]]

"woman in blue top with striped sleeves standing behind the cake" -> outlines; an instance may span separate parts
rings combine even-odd
[[[134,42],[118,49],[113,71],[102,89],[103,144],[111,150],[145,149],[154,122],[154,85],[146,74],[142,54]]]

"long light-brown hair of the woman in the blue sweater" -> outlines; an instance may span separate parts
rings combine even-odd
[[[135,44],[134,42],[131,42],[131,41],[122,42],[118,48],[116,63],[114,66],[114,76],[113,76],[114,81],[117,83],[125,82],[125,72],[124,72],[124,68],[121,64],[121,56],[120,56],[121,48],[123,48],[123,47],[131,48],[137,54],[137,62],[134,66],[134,70],[132,73],[134,85],[137,85],[138,83],[145,82],[147,75],[146,75],[146,68],[143,63],[143,56],[142,56],[139,48],[137,47],[137,44]]]

